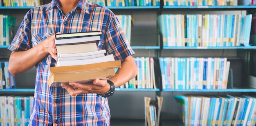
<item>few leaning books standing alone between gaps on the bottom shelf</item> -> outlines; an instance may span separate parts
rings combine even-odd
[[[157,101],[144,97],[145,126],[159,126],[163,97],[157,96]]]

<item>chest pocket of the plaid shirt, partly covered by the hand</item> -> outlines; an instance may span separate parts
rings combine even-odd
[[[53,33],[40,33],[40,34],[36,34],[36,35],[32,35],[31,37],[31,43],[32,43],[32,47],[38,45],[40,42],[44,41],[45,39],[47,39],[49,36],[53,35]],[[47,56],[45,56],[44,59],[42,59],[38,65],[48,65],[51,64],[51,60],[52,57],[50,56],[50,54],[47,54]],[[55,63],[53,63],[55,64]]]

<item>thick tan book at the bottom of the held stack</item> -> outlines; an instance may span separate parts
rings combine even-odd
[[[61,83],[88,83],[94,79],[107,79],[115,75],[121,61],[109,61],[87,65],[50,67],[49,86],[60,87]]]

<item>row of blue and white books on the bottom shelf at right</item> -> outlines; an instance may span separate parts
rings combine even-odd
[[[256,97],[174,96],[184,126],[255,126]]]

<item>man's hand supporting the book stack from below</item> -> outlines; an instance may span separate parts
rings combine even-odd
[[[95,79],[92,83],[61,83],[62,88],[66,89],[70,96],[75,96],[83,93],[103,94],[110,90],[110,85],[107,80]]]

